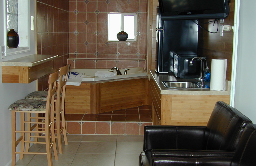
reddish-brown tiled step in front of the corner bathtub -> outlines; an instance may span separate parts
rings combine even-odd
[[[139,106],[101,114],[65,114],[68,134],[143,135],[152,125],[152,108]]]

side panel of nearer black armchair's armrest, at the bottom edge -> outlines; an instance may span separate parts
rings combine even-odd
[[[176,158],[153,157],[152,166],[230,166],[232,157]]]

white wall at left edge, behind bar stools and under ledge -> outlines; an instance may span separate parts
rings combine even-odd
[[[34,7],[33,7],[34,8]],[[4,45],[4,1],[0,1],[0,46]],[[32,41],[34,42],[34,41]],[[6,61],[24,55],[8,56],[0,61]],[[11,111],[8,110],[16,100],[24,98],[30,92],[36,90],[36,82],[30,84],[2,83],[2,68],[0,67],[0,165],[11,165],[12,135],[11,135]],[[17,117],[17,124],[20,121]],[[20,147],[17,147],[20,148]]]

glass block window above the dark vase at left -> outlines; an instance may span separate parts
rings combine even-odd
[[[6,0],[7,32],[14,29],[18,32],[18,0]]]

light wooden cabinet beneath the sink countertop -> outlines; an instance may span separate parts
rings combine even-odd
[[[229,103],[230,95],[161,94],[150,77],[153,125],[206,125],[217,101]]]

